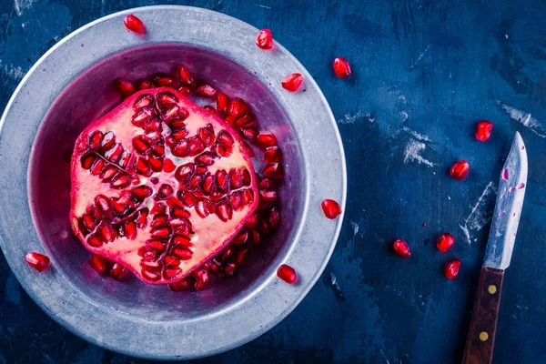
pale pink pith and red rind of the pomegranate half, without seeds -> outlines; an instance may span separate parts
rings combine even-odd
[[[197,134],[197,129],[207,126],[208,124],[213,126],[216,135],[218,135],[222,130],[226,130],[227,133],[233,137],[234,147],[232,154],[229,157],[217,158],[215,163],[208,167],[208,170],[212,174],[221,167],[226,167],[226,169],[230,166],[247,168],[250,175],[250,183],[245,188],[251,189],[255,198],[253,201],[249,202],[248,205],[243,207],[241,211],[232,211],[232,217],[227,219],[227,221],[221,220],[217,214],[214,213],[209,214],[205,218],[197,217],[197,210],[195,207],[185,207],[187,211],[190,212],[190,222],[192,223],[193,230],[195,231],[195,234],[192,237],[192,244],[195,246],[193,254],[190,259],[181,260],[180,265],[178,266],[179,268],[182,268],[182,272],[180,274],[177,274],[174,278],[165,278],[163,277],[165,272],[163,272],[163,276],[157,279],[143,277],[141,265],[143,258],[139,256],[137,252],[139,248],[146,246],[147,240],[151,239],[151,214],[149,217],[147,217],[147,227],[137,230],[135,240],[125,237],[115,238],[113,241],[106,242],[98,247],[90,245],[88,239],[98,227],[95,227],[93,231],[89,232],[88,235],[85,236],[85,232],[80,231],[80,221],[86,212],[86,208],[94,204],[95,197],[98,195],[104,195],[109,198],[118,198],[120,197],[122,191],[142,185],[152,187],[155,195],[157,193],[157,189],[162,186],[162,184],[168,183],[174,187],[173,196],[176,196],[177,190],[180,188],[177,179],[174,177],[176,172],[154,172],[152,176],[148,176],[147,178],[138,176],[139,181],[136,184],[131,184],[126,188],[115,190],[110,187],[109,183],[105,183],[98,176],[93,176],[90,173],[90,170],[82,167],[82,157],[88,154],[88,149],[83,152],[80,150],[83,149],[81,147],[82,145],[89,143],[88,141],[86,142],[87,137],[95,133],[96,130],[100,130],[103,135],[106,135],[106,133],[109,131],[115,131],[116,143],[120,143],[124,147],[124,151],[130,155],[134,155],[135,157],[138,156],[135,148],[133,147],[132,140],[135,136],[143,134],[143,129],[139,129],[137,126],[132,124],[133,116],[136,114],[133,106],[135,105],[136,99],[140,96],[147,94],[157,96],[162,92],[169,92],[177,96],[177,99],[179,100],[177,105],[188,111],[189,116],[187,116],[185,121],[187,124],[187,130],[190,134],[187,137]],[[163,135],[165,136],[165,130],[168,132],[170,129],[165,123],[162,123],[162,126],[164,128]],[[194,162],[195,158],[198,157],[172,157],[172,154],[169,155],[169,147],[165,145],[165,148],[167,149],[165,157],[170,157],[170,159],[175,162],[177,167],[184,163]],[[113,149],[114,147],[112,147],[110,150]],[[205,149],[205,152],[207,152],[207,150],[208,147]],[[133,171],[130,173],[135,174]],[[151,183],[150,179],[153,177],[158,177],[160,180],[159,183]],[[238,136],[238,132],[232,126],[229,126],[226,122],[224,122],[219,116],[212,113],[207,113],[207,111],[201,106],[197,106],[191,100],[187,99],[186,96],[183,96],[176,90],[169,87],[158,87],[138,91],[133,96],[127,97],[121,105],[117,106],[105,116],[98,118],[96,121],[86,127],[86,129],[76,139],[75,149],[71,160],[71,186],[71,208],[69,218],[74,233],[81,240],[82,244],[94,254],[104,256],[105,258],[123,265],[132,271],[137,278],[150,284],[169,284],[186,278],[187,275],[189,275],[194,269],[198,268],[201,264],[207,261],[207,259],[214,257],[219,251],[225,248],[229,242],[237,236],[238,231],[245,225],[248,217],[251,217],[258,207],[258,178],[256,177],[252,161],[248,156],[247,149],[244,146],[242,139]],[[228,196],[228,193],[225,196]],[[147,200],[152,200],[152,197],[147,197],[145,202]],[[140,207],[137,208],[144,206],[148,207],[148,210],[151,210],[153,205],[150,203],[145,205],[143,202]],[[197,239],[195,238],[196,236]]]

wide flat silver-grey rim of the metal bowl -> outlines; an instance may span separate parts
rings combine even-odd
[[[40,57],[36,61],[35,65],[23,77],[20,84],[15,88],[13,96],[9,99],[7,106],[5,107],[4,114],[0,119],[0,155],[4,156],[0,159],[0,181],[2,192],[0,192],[0,201],[6,202],[7,197],[13,197],[15,202],[19,199],[19,202],[14,203],[13,199],[10,199],[9,205],[0,204],[0,247],[4,251],[5,258],[15,273],[15,277],[19,280],[25,291],[36,304],[42,308],[52,319],[55,319],[61,326],[70,330],[76,336],[86,339],[87,341],[96,344],[99,347],[110,349],[122,354],[126,354],[133,357],[143,359],[196,359],[209,355],[214,355],[227,349],[234,349],[242,344],[247,343],[252,339],[258,338],[261,334],[273,328],[282,319],[298,306],[298,303],[308,294],[310,288],[319,279],[324,268],[328,264],[329,258],[336,246],[336,242],[339,238],[339,231],[343,221],[343,211],[346,205],[347,196],[347,170],[344,150],[339,135],[339,129],[336,125],[336,120],[329,108],[329,104],[319,89],[319,86],[315,80],[308,74],[308,71],[302,66],[298,60],[292,56],[286,48],[275,42],[275,57],[282,59],[284,62],[283,68],[290,68],[298,70],[305,78],[305,85],[307,92],[305,94],[298,93],[298,101],[290,100],[290,95],[282,90],[279,83],[277,85],[270,86],[270,91],[274,93],[274,96],[278,99],[280,106],[291,110],[290,116],[293,114],[302,115],[302,110],[297,110],[298,107],[294,106],[294,103],[298,102],[298,105],[313,105],[324,112],[324,121],[322,119],[316,122],[304,123],[304,125],[298,126],[298,133],[305,133],[306,131],[314,132],[317,136],[323,136],[328,139],[329,143],[325,143],[325,140],[306,140],[306,143],[301,143],[299,147],[303,149],[303,155],[306,164],[307,173],[307,195],[305,198],[304,207],[305,213],[303,215],[303,221],[298,225],[300,229],[296,234],[296,241],[292,242],[290,248],[287,249],[283,257],[282,262],[286,262],[289,265],[295,267],[298,270],[300,283],[297,286],[289,286],[284,282],[279,282],[275,276],[275,271],[269,271],[263,277],[262,282],[257,288],[249,292],[248,297],[243,298],[224,308],[215,312],[212,315],[208,315],[206,318],[197,319],[197,322],[193,320],[175,321],[168,330],[166,328],[158,328],[164,322],[145,322],[143,320],[127,321],[127,324],[135,325],[128,335],[132,339],[136,340],[138,345],[127,348],[126,339],[124,335],[119,335],[116,329],[103,329],[98,331],[99,328],[96,323],[89,324],[88,322],[82,322],[81,318],[77,318],[78,310],[81,310],[82,302],[79,302],[77,292],[74,291],[74,287],[66,281],[66,278],[60,277],[56,274],[55,269],[49,274],[36,275],[35,272],[26,266],[24,261],[25,251],[31,250],[46,250],[41,241],[37,238],[35,226],[32,216],[30,214],[30,204],[32,202],[28,200],[28,186],[26,183],[22,183],[21,186],[16,185],[17,180],[22,182],[21,179],[27,177],[29,164],[29,157],[32,151],[30,146],[34,146],[36,132],[42,123],[43,117],[46,115],[47,110],[54,104],[57,96],[61,95],[62,90],[68,86],[72,80],[81,74],[79,68],[73,70],[66,70],[67,65],[58,65],[59,74],[58,81],[60,84],[56,89],[57,94],[44,95],[35,97],[36,105],[35,110],[31,110],[27,104],[27,98],[29,97],[29,91],[39,90],[39,83],[43,81],[43,72],[40,72],[39,68],[46,65],[50,65],[53,62],[51,58],[55,58],[61,55],[70,55],[74,52],[76,46],[80,43],[84,43],[86,40],[86,48],[89,51],[89,44],[91,49],[93,43],[87,40],[90,39],[89,32],[95,33],[100,31],[107,31],[112,26],[115,29],[119,26],[123,27],[122,17],[129,14],[136,14],[138,17],[145,21],[149,35],[151,38],[138,37],[131,33],[120,32],[121,34],[112,35],[109,40],[112,43],[107,44],[100,51],[100,54],[104,57],[113,56],[118,52],[125,51],[132,47],[144,46],[154,43],[185,43],[187,39],[184,39],[184,35],[175,35],[177,39],[173,39],[173,35],[162,34],[156,32],[157,16],[161,13],[168,12],[170,15],[180,16],[181,18],[194,19],[196,18],[200,22],[207,22],[207,26],[215,28],[217,26],[229,25],[230,28],[237,29],[246,38],[251,39],[251,42],[247,42],[249,45],[247,51],[254,52],[258,47],[254,45],[254,37],[258,33],[258,29],[252,25],[238,20],[237,18],[229,15],[217,13],[212,10],[193,6],[183,5],[153,5],[137,7],[128,9],[125,11],[117,12],[112,15],[106,15],[101,17],[87,25],[84,25],[66,35],[56,45],[50,48],[44,56]],[[125,28],[123,28],[125,30]],[[235,30],[234,30],[235,31]],[[183,32],[180,32],[183,33]],[[161,40],[158,37],[168,37]],[[190,39],[195,41],[195,39]],[[248,39],[247,39],[248,40]],[[151,42],[150,42],[151,41]],[[100,41],[99,41],[100,42]],[[98,44],[95,44],[98,46]],[[195,44],[191,44],[195,45]],[[103,45],[104,46],[104,45]],[[199,44],[196,46],[207,47],[207,44]],[[215,52],[225,54],[227,57],[233,59],[238,56],[238,50],[232,51],[229,49],[229,45],[222,45],[218,48],[207,48]],[[261,50],[258,50],[261,51]],[[261,51],[263,52],[263,51]],[[86,68],[93,66],[99,59],[82,60],[82,65]],[[87,63],[86,63],[87,62]],[[237,61],[236,61],[237,62]],[[247,68],[247,66],[242,65]],[[288,67],[287,67],[288,66]],[[44,70],[45,68],[43,68]],[[247,68],[248,69],[248,68]],[[257,72],[258,79],[262,82],[265,80],[265,76],[261,72],[266,72],[259,68],[254,69]],[[66,74],[64,74],[66,72]],[[25,93],[26,92],[26,93]],[[35,95],[36,96],[36,95]],[[40,100],[40,98],[43,98]],[[285,104],[286,103],[286,104]],[[291,104],[290,104],[291,103]],[[45,111],[44,111],[45,110]],[[27,119],[28,126],[16,128],[13,124],[18,117],[29,115]],[[300,118],[298,117],[298,120]],[[328,121],[326,121],[328,119]],[[9,122],[11,120],[11,124]],[[289,122],[293,125],[292,118]],[[15,128],[14,128],[15,127]],[[8,133],[8,131],[12,131]],[[13,131],[17,130],[18,135],[14,138]],[[326,132],[325,132],[326,131]],[[26,152],[28,156],[17,159],[16,157],[9,156],[10,147],[15,147],[13,140],[18,140],[19,143],[23,140],[22,147],[26,145]],[[8,156],[8,157],[6,157]],[[325,160],[322,158],[328,157],[330,164],[325,165]],[[308,160],[308,159],[311,160]],[[315,158],[318,158],[315,160]],[[335,162],[333,162],[335,160]],[[328,176],[325,173],[331,172]],[[333,176],[333,177],[332,177]],[[12,177],[12,179],[10,179]],[[15,177],[15,181],[13,178]],[[310,180],[312,179],[312,181]],[[15,182],[15,183],[14,183]],[[27,180],[25,180],[27,182]],[[16,192],[14,192],[16,191]],[[25,196],[26,199],[22,199]],[[19,198],[21,197],[21,198]],[[340,202],[342,208],[342,214],[337,220],[329,221],[322,216],[319,203],[324,198],[334,198]],[[9,206],[10,208],[6,208]],[[26,224],[22,231],[15,231],[13,227],[13,215],[20,214],[18,221],[30,222]],[[312,224],[315,224],[314,226]],[[320,227],[319,229],[317,227]],[[319,231],[318,231],[319,230]],[[316,239],[320,238],[317,242]],[[10,244],[11,243],[11,244]],[[17,243],[17,244],[15,244]],[[21,246],[23,244],[23,246]],[[16,247],[15,247],[16,246]],[[26,249],[26,250],[25,250]],[[303,259],[301,255],[305,252],[313,251],[316,254],[316,261],[311,261],[306,258]],[[298,253],[299,254],[298,256]],[[52,266],[55,265],[55,261],[52,261]],[[55,286],[56,295],[51,295],[43,289],[43,287]],[[63,300],[61,305],[61,298]],[[268,299],[274,298],[274,302],[278,304],[277,307],[273,307]],[[210,325],[212,329],[227,329],[229,325],[227,322],[231,319],[237,318],[238,313],[240,319],[240,313],[247,313],[249,327],[248,332],[238,333],[232,335],[224,331],[225,335],[221,335],[214,338],[214,342],[209,339],[204,340],[203,336],[195,335],[195,325]],[[105,311],[104,308],[98,306],[92,308],[97,315],[101,313],[106,315],[104,319],[124,319],[126,317],[109,317],[107,314],[112,314],[111,311]],[[101,311],[102,312],[98,312]],[[103,316],[97,315],[103,318]],[[266,317],[267,316],[267,317]],[[79,320],[78,320],[79,319]],[[121,321],[124,322],[125,321]],[[169,323],[170,324],[170,323]],[[151,333],[163,332],[166,336],[161,339],[170,338],[173,345],[159,346],[157,343],[151,343],[147,346],[146,339],[150,339]],[[171,336],[167,336],[167,333],[171,333]],[[214,332],[217,332],[215,330]],[[175,333],[175,334],[172,334]],[[179,347],[175,348],[177,343],[176,339],[180,339],[180,334],[190,334],[188,337],[184,337],[183,343],[180,344],[185,350],[180,351]],[[153,344],[156,344],[154,347]],[[191,346],[190,344],[196,344]],[[191,349],[189,349],[191,348]],[[178,351],[177,351],[178,350]]]

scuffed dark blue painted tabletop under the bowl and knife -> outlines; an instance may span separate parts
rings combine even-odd
[[[546,361],[546,3],[3,0],[0,106],[63,36],[102,15],[160,3],[202,6],[271,28],[328,98],[348,157],[346,220],[324,277],[276,328],[199,362],[460,361],[488,214],[516,130],[527,144],[530,175],[494,362]],[[348,80],[332,75],[335,56],[349,59]],[[472,136],[481,118],[495,123],[485,144]],[[472,167],[463,182],[446,176],[459,158]],[[432,243],[444,230],[458,239],[446,254]],[[410,241],[410,259],[393,256],[394,238]],[[463,262],[453,281],[441,274],[450,258]],[[59,327],[2,258],[0,363],[27,362],[143,361]]]

